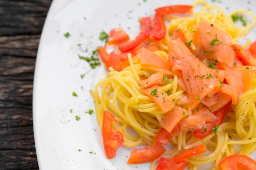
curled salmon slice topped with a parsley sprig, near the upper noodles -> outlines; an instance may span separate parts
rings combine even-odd
[[[198,22],[195,25],[193,44],[197,47],[195,56],[201,61],[217,59],[218,62],[233,67],[235,53],[231,48],[231,39],[214,25],[205,20]]]

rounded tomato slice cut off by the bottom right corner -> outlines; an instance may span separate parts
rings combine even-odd
[[[246,155],[234,154],[223,158],[219,163],[220,170],[256,170],[256,161]]]

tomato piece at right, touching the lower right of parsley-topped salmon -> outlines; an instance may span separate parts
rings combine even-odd
[[[249,50],[243,49],[243,47],[238,44],[232,44],[231,47],[234,49],[238,59],[243,62],[243,65],[255,66],[255,58],[252,56]]]

